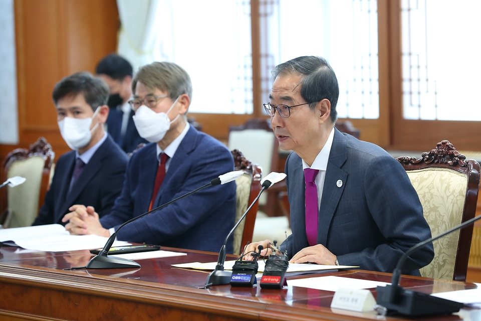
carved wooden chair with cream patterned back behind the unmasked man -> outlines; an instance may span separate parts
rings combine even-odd
[[[432,236],[474,217],[479,190],[479,164],[465,160],[453,145],[443,140],[421,158],[396,158],[409,176]],[[465,281],[473,226],[433,242],[434,259],[421,276]]]

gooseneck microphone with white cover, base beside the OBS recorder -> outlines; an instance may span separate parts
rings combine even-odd
[[[205,281],[205,287],[211,286],[211,285],[222,285],[222,284],[229,284],[230,283],[230,278],[232,276],[232,271],[224,271],[224,262],[225,262],[225,244],[227,244],[227,240],[229,237],[232,235],[234,230],[237,228],[237,226],[244,220],[244,218],[247,216],[247,213],[251,210],[251,208],[256,204],[256,202],[259,200],[261,197],[262,192],[273,186],[274,184],[284,180],[286,178],[286,174],[284,173],[276,173],[272,172],[268,176],[266,176],[263,180],[261,180],[261,185],[262,189],[257,195],[256,199],[249,205],[248,209],[246,212],[243,214],[242,217],[235,223],[234,227],[230,230],[230,232],[227,234],[227,237],[225,238],[224,244],[222,244],[222,247],[220,248],[219,251],[219,257],[217,258],[217,264],[215,265],[215,269],[210,272],[209,276],[207,276],[207,280]]]

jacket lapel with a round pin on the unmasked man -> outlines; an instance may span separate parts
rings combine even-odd
[[[341,169],[346,159],[346,138],[340,131],[335,129],[319,209],[317,243],[324,246],[327,245],[329,226],[346,186],[347,173]],[[342,181],[341,187],[338,187],[337,184],[339,180]]]

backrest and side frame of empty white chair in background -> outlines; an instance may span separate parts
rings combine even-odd
[[[269,119],[253,118],[243,125],[230,126],[228,147],[242,150],[246,158],[260,165],[265,175],[279,171],[279,144]],[[286,191],[285,181],[277,183],[261,196],[259,209],[267,216],[287,215],[280,197]]]

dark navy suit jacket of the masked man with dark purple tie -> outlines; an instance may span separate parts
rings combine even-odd
[[[75,204],[93,206],[99,216],[109,213],[122,190],[127,162],[125,152],[107,136],[68,193],[75,167],[75,151],[63,154],[55,166],[52,185],[33,225],[65,225],[62,218]]]

